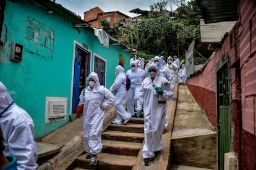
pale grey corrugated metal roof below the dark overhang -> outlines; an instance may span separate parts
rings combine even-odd
[[[218,22],[218,23],[207,23],[200,20],[200,34],[201,42],[221,42],[224,34],[234,27],[236,21],[233,22]]]

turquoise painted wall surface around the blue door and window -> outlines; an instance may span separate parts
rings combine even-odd
[[[33,28],[28,29],[27,23]],[[31,29],[43,31],[38,34],[38,44],[45,41],[45,34],[50,34],[50,38],[45,41],[49,48],[36,46],[30,41]],[[0,46],[0,81],[6,84],[15,103],[32,116],[35,138],[69,121],[74,41],[87,44],[92,51],[91,59],[95,52],[107,60],[106,87],[114,81],[114,68],[118,65],[120,53],[126,60],[125,70],[129,69],[129,52],[122,51],[119,46],[103,47],[93,33],[83,28],[80,28],[79,33],[72,23],[57,15],[47,14],[45,9],[29,1],[7,1],[2,30],[1,41],[4,45]],[[10,60],[11,42],[23,45],[20,63]],[[90,68],[92,71],[93,65]],[[66,120],[45,123],[46,97],[67,97]]]

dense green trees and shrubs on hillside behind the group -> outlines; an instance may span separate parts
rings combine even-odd
[[[150,6],[151,15],[135,26],[119,30],[115,23],[101,23],[103,30],[132,49],[137,49],[139,57],[151,59],[153,55],[180,55],[184,57],[192,39],[200,39],[200,18],[202,13],[196,0],[181,4],[173,21],[173,15],[166,15],[167,1]],[[141,55],[141,56],[140,56]]]

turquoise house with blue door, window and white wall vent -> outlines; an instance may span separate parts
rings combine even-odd
[[[48,0],[2,0],[0,31],[0,81],[32,117],[35,138],[69,122],[90,72],[109,88],[134,52],[113,38],[103,47],[87,22]]]

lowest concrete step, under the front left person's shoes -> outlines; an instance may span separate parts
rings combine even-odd
[[[99,153],[97,155],[98,164],[93,167],[90,166],[90,159],[85,158],[86,155],[79,156],[75,161],[76,167],[79,168],[92,168],[92,169],[115,169],[115,170],[126,170],[132,169],[137,156],[124,156],[114,155],[110,153]]]

